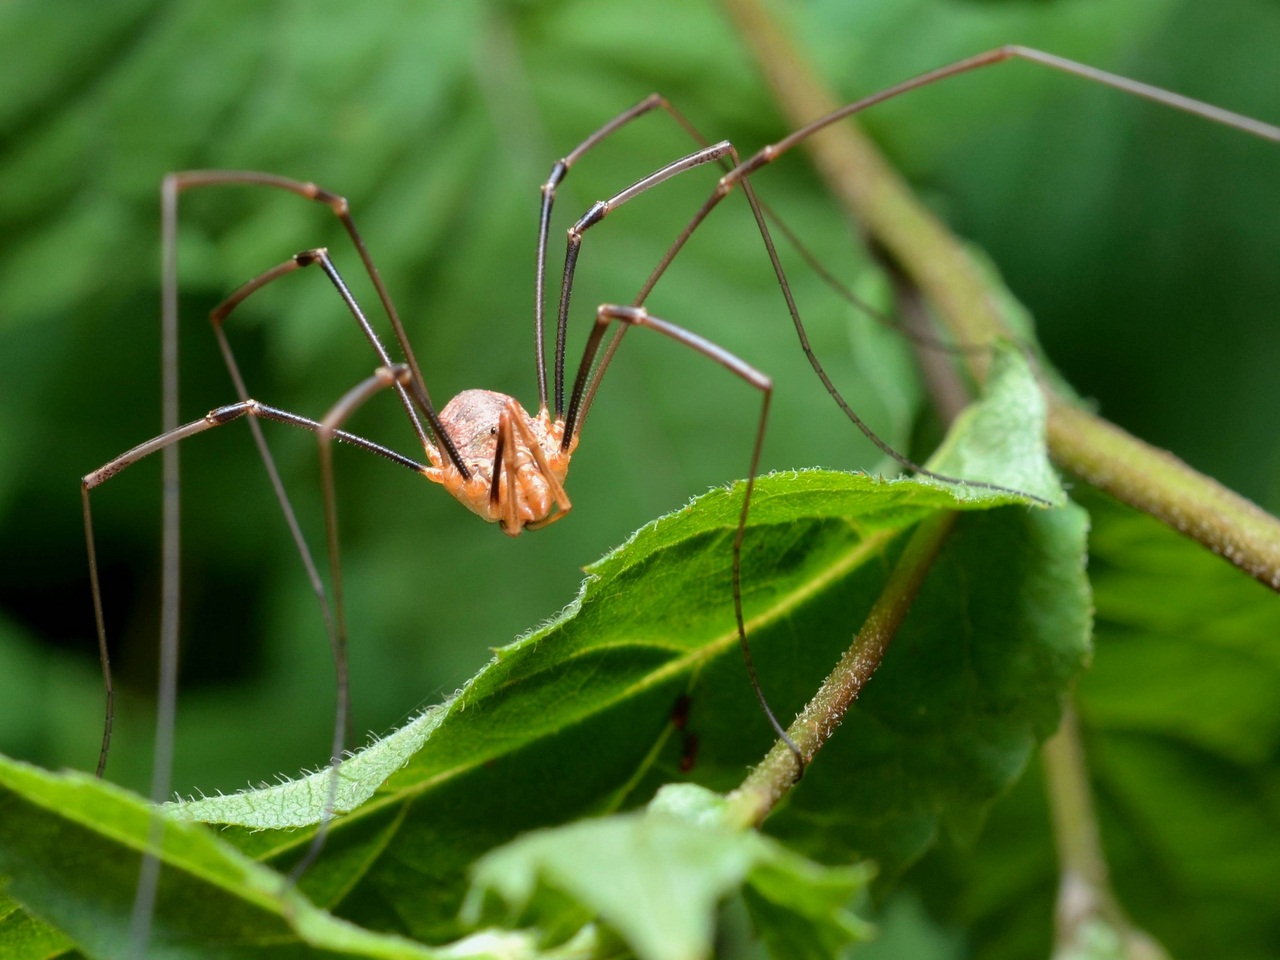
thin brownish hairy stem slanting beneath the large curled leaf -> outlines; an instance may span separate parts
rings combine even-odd
[[[943,512],[915,527],[852,645],[787,728],[787,736],[799,748],[805,764],[836,732],[849,705],[858,699],[863,686],[884,659],[890,641],[906,618],[906,612],[920,591],[955,520],[955,513]],[[799,781],[800,773],[796,755],[781,740],[776,742],[742,785],[730,794],[732,820],[742,827],[759,824]]]

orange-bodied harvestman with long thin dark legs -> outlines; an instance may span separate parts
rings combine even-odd
[[[538,270],[535,282],[535,356],[538,375],[538,412],[529,413],[516,399],[506,394],[489,390],[466,390],[454,397],[439,412],[434,407],[426,389],[421,369],[410,346],[404,326],[396,311],[390,294],[374,265],[372,257],[356,229],[349,214],[347,201],[312,183],[292,180],[283,177],[252,173],[252,172],[191,172],[172,174],[163,186],[163,225],[164,225],[164,340],[165,340],[165,416],[164,431],[142,443],[119,457],[111,460],[102,467],[83,477],[83,511],[86,538],[88,545],[90,570],[93,584],[93,603],[97,621],[97,634],[100,653],[102,658],[104,678],[106,682],[106,722],[104,726],[102,750],[99,760],[99,774],[106,763],[110,745],[111,719],[113,719],[113,686],[110,667],[106,655],[105,627],[102,622],[101,590],[97,581],[97,562],[92,534],[92,521],[90,512],[90,492],[143,457],[163,451],[165,458],[165,536],[164,536],[164,614],[161,625],[161,695],[157,716],[156,759],[155,774],[152,778],[152,797],[163,800],[168,794],[168,764],[172,756],[172,727],[173,727],[173,701],[175,687],[177,663],[177,598],[178,598],[178,493],[177,493],[177,444],[182,439],[204,433],[211,428],[221,426],[247,417],[259,445],[264,463],[275,488],[285,520],[291,527],[300,554],[307,568],[308,579],[319,598],[324,620],[328,625],[329,636],[333,644],[334,663],[338,681],[338,704],[335,710],[334,740],[332,751],[332,768],[334,777],[330,780],[329,797],[321,818],[320,828],[310,850],[294,869],[296,877],[317,855],[323,842],[328,823],[334,815],[334,796],[337,787],[337,773],[344,750],[346,716],[348,709],[347,672],[346,672],[346,623],[342,603],[342,575],[338,561],[338,526],[337,526],[337,499],[333,488],[333,457],[332,445],[339,440],[370,453],[381,456],[393,463],[425,476],[429,480],[442,484],[456,499],[483,518],[497,524],[503,532],[516,536],[524,530],[538,530],[564,517],[572,507],[564,489],[564,479],[568,471],[568,461],[577,447],[582,424],[590,410],[591,402],[600,385],[605,370],[621,343],[622,337],[631,326],[652,329],[664,337],[701,353],[707,358],[735,374],[750,387],[759,390],[762,396],[762,408],[755,438],[751,448],[748,479],[742,490],[741,511],[737,521],[737,530],[732,541],[732,602],[737,622],[739,639],[741,641],[748,673],[760,707],[773,726],[777,735],[796,754],[797,773],[803,771],[808,758],[800,755],[797,748],[787,739],[781,723],[765,700],[760,689],[755,668],[751,666],[750,649],[742,620],[741,604],[741,548],[746,531],[750,511],[750,498],[755,475],[760,462],[760,452],[768,421],[769,401],[773,384],[767,374],[751,366],[746,361],[726,351],[724,348],[707,340],[690,329],[680,326],[672,321],[650,315],[645,307],[645,300],[658,283],[663,273],[673,259],[682,250],[691,234],[701,225],[710,211],[735,188],[741,187],[756,225],[760,230],[765,251],[774,270],[780,291],[785,298],[787,310],[792,317],[801,349],[812,364],[832,399],[840,406],[851,422],[861,430],[884,453],[899,463],[923,476],[933,477],[948,484],[968,484],[995,490],[1011,490],[998,484],[988,481],[965,480],[932,472],[908,460],[881,440],[872,429],[864,424],[850,406],[841,397],[838,389],[826,374],[818,357],[809,346],[804,324],[799,308],[791,296],[785,270],[774,247],[772,233],[768,227],[767,210],[760,205],[751,188],[750,174],[771,164],[792,147],[808,140],[814,133],[826,127],[860,113],[886,100],[897,97],[911,90],[936,83],[948,77],[969,73],[984,67],[1004,63],[1010,59],[1021,59],[1050,67],[1056,70],[1070,73],[1093,82],[1110,86],[1119,91],[1146,97],[1174,109],[1198,115],[1216,123],[1244,131],[1265,140],[1280,142],[1280,128],[1260,123],[1249,118],[1234,114],[1219,108],[1203,104],[1176,93],[1151,87],[1148,84],[1129,81],[1126,78],[1110,74],[1094,68],[1085,67],[1062,58],[1044,54],[1025,47],[1001,47],[998,50],[980,54],[954,64],[938,68],[925,74],[920,74],[897,86],[849,104],[813,123],[801,127],[790,136],[776,143],[768,145],[753,154],[745,161],[740,161],[733,146],[728,141],[707,143],[698,131],[663,97],[653,95],[640,101],[634,108],[623,111],[599,131],[588,137],[573,151],[567,154],[552,169],[552,174],[543,186],[541,211],[538,233]],[[556,197],[556,188],[563,180],[572,165],[582,157],[596,143],[617,132],[623,125],[636,118],[660,109],[669,114],[686,132],[690,133],[701,146],[689,155],[675,160],[658,169],[653,174],[641,178],[626,189],[616,193],[609,200],[593,205],[568,230],[568,242],[564,257],[564,270],[561,283],[561,296],[558,301],[556,348],[553,360],[553,389],[548,396],[547,362],[544,357],[544,300],[545,300],[545,261],[547,244],[550,225],[550,214]],[[595,324],[588,337],[582,360],[573,379],[572,389],[566,398],[564,389],[564,361],[566,361],[566,332],[570,312],[570,302],[573,287],[573,275],[581,242],[585,232],[600,223],[612,210],[626,204],[628,200],[659,186],[667,179],[694,169],[707,163],[719,163],[726,166],[726,173],[718,179],[716,189],[710,197],[696,211],[687,227],[680,233],[671,248],[654,268],[639,294],[630,305],[605,303],[596,310]],[[210,186],[250,184],[294,193],[305,200],[329,206],[339,219],[355,246],[365,271],[371,279],[379,301],[392,325],[393,335],[399,347],[403,361],[393,360],[381,338],[375,332],[372,324],[366,317],[361,306],[351,294],[347,284],[338,273],[337,266],[324,248],[303,251],[280,265],[265,271],[250,280],[211,314],[211,321],[219,347],[230,372],[236,392],[239,399],[234,403],[215,408],[205,417],[178,424],[177,417],[177,374],[175,374],[175,332],[177,332],[177,262],[175,262],[175,236],[178,224],[178,196],[183,191]],[[801,253],[804,251],[801,250]],[[808,255],[805,255],[808,259]],[[375,371],[360,384],[343,394],[320,420],[312,420],[289,411],[268,406],[253,399],[241,376],[234,355],[228,338],[223,330],[223,321],[247,297],[261,289],[275,279],[293,273],[294,270],[316,265],[326,275],[332,285],[338,292],[347,310],[356,320],[365,338],[372,347],[378,366]],[[612,339],[605,344],[604,334],[609,326],[616,325]],[[603,352],[602,352],[603,347]],[[959,344],[954,348],[973,349],[980,344]],[[401,407],[404,410],[420,444],[424,449],[425,462],[419,462],[403,456],[381,444],[367,440],[356,434],[343,430],[347,419],[371,397],[383,390],[393,390]],[[550,404],[549,406],[549,401]],[[319,571],[312,562],[308,549],[302,539],[297,520],[284,494],[279,474],[269,453],[259,420],[273,420],[296,428],[312,431],[319,442],[321,463],[321,485],[324,493],[326,547],[330,559],[332,598],[325,593]],[[425,424],[422,422],[425,420]],[[1016,490],[1014,490],[1018,493]],[[1028,494],[1029,495],[1029,494]],[[1033,497],[1032,499],[1039,499]],[[152,835],[151,849],[154,850],[157,836]],[[145,943],[145,924],[150,915],[150,904],[155,893],[156,870],[159,860],[156,856],[147,856],[143,860],[143,878],[140,881],[138,905],[136,908],[136,931],[141,929],[137,942]],[[148,874],[148,869],[150,874]]]

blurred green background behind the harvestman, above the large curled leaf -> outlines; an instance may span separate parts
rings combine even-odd
[[[1261,0],[827,0],[785,13],[850,99],[1021,42],[1280,120],[1280,6]],[[0,6],[0,750],[51,767],[91,768],[97,750],[77,481],[159,428],[166,172],[260,169],[346,195],[438,403],[486,387],[534,406],[534,238],[552,163],[650,91],[744,152],[787,131],[712,3],[23,1]],[[998,264],[1083,394],[1280,507],[1274,146],[1023,64],[922,91],[867,125]],[[575,168],[552,279],[571,218],[689,148],[654,115]],[[686,174],[588,234],[571,356],[594,306],[630,301],[713,179]],[[879,296],[803,157],[755,182],[833,271]],[[184,419],[234,398],[209,308],[293,252],[330,246],[375,312],[325,209],[243,188],[191,193],[182,209]],[[805,270],[794,279],[852,406],[909,444],[908,352]],[[745,205],[717,211],[650,308],[774,376],[767,467],[882,467],[799,355]],[[229,329],[251,392],[301,413],[319,416],[372,366],[319,274],[265,291]],[[454,690],[631,530],[745,472],[758,399],[686,353],[628,337],[570,475],[573,516],[517,541],[413,475],[339,452],[360,736]],[[352,429],[415,456],[389,398]],[[319,545],[315,444],[268,434]],[[332,666],[247,430],[184,444],[183,470],[175,788],[314,767]],[[136,787],[150,763],[159,513],[157,463],[95,495],[122,687],[109,773]]]

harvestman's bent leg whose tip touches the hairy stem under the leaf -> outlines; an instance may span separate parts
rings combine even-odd
[[[769,726],[773,727],[773,732],[777,733],[778,739],[791,749],[792,754],[795,754],[797,763],[796,777],[799,778],[799,776],[804,772],[808,758],[800,753],[800,748],[797,748],[791,737],[787,736],[786,730],[778,722],[773,709],[769,707],[768,699],[764,696],[764,690],[760,686],[760,677],[755,671],[755,662],[751,659],[751,645],[746,637],[746,621],[742,616],[742,540],[746,538],[746,521],[751,512],[751,492],[755,489],[755,475],[760,467],[760,453],[764,448],[764,430],[769,420],[769,402],[773,398],[773,380],[746,361],[730,353],[723,347],[712,343],[704,337],[699,337],[691,330],[686,330],[685,328],[677,326],[667,320],[662,320],[660,317],[652,316],[644,307],[605,303],[595,311],[595,325],[591,328],[591,333],[588,337],[586,349],[582,353],[582,362],[579,365],[577,376],[573,381],[573,396],[570,401],[571,421],[573,412],[582,401],[582,392],[586,389],[586,384],[590,379],[591,367],[600,348],[600,342],[604,338],[604,333],[614,321],[623,323],[627,326],[645,326],[650,330],[657,330],[664,337],[669,337],[677,343],[682,343],[684,346],[698,351],[704,357],[713,360],[731,374],[760,392],[760,420],[755,428],[755,440],[751,444],[751,462],[748,467],[746,486],[742,490],[742,507],[739,511],[737,531],[733,535],[733,617],[737,623],[737,640],[742,648],[742,659],[746,663],[746,672],[751,681],[751,689],[755,691],[755,696],[760,701],[760,709],[768,718]],[[567,434],[568,428],[566,428],[566,435]]]

